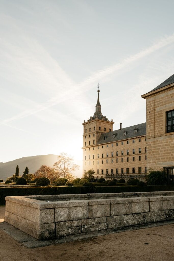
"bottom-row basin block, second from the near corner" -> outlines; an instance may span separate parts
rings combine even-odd
[[[64,221],[56,223],[56,237],[75,235],[82,232],[81,220]]]

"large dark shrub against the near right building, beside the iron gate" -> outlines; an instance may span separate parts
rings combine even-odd
[[[146,177],[147,185],[164,185],[165,173],[164,171],[150,171]]]

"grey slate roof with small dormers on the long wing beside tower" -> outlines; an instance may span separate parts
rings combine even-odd
[[[137,129],[137,133],[135,133],[135,128]],[[124,131],[126,132],[125,136],[123,134]],[[114,134],[116,134],[115,138],[114,138]],[[97,144],[103,144],[103,143],[108,143],[108,142],[112,142],[112,141],[130,139],[130,138],[139,137],[139,136],[143,136],[143,135],[146,135],[146,122],[140,123],[140,124],[137,124],[134,126],[122,128],[121,130],[118,129],[116,131],[103,133],[100,136]],[[104,136],[106,137],[105,140],[104,140]]]

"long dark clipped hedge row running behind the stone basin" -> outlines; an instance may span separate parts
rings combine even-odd
[[[174,191],[174,186],[96,186],[90,187],[0,187],[0,205],[7,196]]]

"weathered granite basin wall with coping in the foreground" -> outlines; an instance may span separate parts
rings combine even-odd
[[[4,221],[39,240],[174,219],[174,191],[5,200]]]

